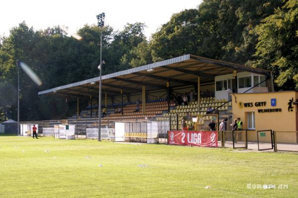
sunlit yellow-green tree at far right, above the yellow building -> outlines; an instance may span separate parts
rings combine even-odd
[[[253,66],[273,70],[281,89],[298,88],[298,1],[284,1],[255,31],[258,43]]]

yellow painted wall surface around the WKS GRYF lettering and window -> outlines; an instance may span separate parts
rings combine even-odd
[[[232,96],[232,112],[233,119],[241,118],[243,122],[243,129],[247,129],[247,112],[255,112],[255,130],[247,131],[248,140],[257,141],[256,131],[261,130],[274,130],[285,133],[285,135],[279,135],[278,142],[292,142],[296,143],[296,129],[297,120],[296,114],[297,105],[293,105],[293,111],[288,111],[289,100],[294,99],[294,102],[298,99],[298,92],[296,91],[284,91],[284,92],[268,92],[268,93],[234,93],[236,96]],[[271,99],[276,98],[276,106],[271,106]],[[243,103],[253,103],[253,107],[239,108],[239,101]],[[255,102],[266,102],[266,106],[256,107]],[[259,113],[258,109],[276,109],[281,108],[281,112]],[[280,134],[280,133],[279,133]],[[270,141],[270,136],[266,135],[267,141]]]

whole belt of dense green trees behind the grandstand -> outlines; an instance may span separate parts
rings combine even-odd
[[[298,87],[297,0],[204,0],[173,14],[149,40],[145,27],[103,28],[104,74],[193,54],[273,70],[277,90]],[[20,72],[21,119],[65,118],[64,98],[37,92],[99,75],[100,29],[85,25],[77,33],[81,41],[59,27],[35,31],[22,22],[0,38],[0,113],[16,119],[18,59],[43,81],[37,87]]]

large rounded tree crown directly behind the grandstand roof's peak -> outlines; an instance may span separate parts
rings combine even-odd
[[[197,9],[173,14],[150,41],[153,61],[183,54],[245,64],[255,53],[251,30],[279,0],[203,0]]]

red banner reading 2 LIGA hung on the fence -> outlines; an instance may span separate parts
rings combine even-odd
[[[168,131],[168,144],[218,147],[218,132]]]

